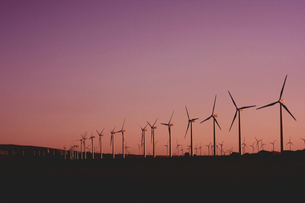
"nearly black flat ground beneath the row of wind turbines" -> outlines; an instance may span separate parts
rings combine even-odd
[[[249,198],[264,196],[283,200],[287,195],[304,194],[304,150],[217,157],[117,157],[112,159],[106,154],[101,160],[96,155],[93,160],[88,154],[86,160],[70,160],[68,155],[64,160],[58,150],[56,156],[50,153],[45,157],[21,156],[21,153],[0,155],[0,185],[5,186],[0,190],[0,197],[18,194],[16,198],[24,200],[37,200],[41,196],[80,200],[103,196],[112,201],[161,198],[161,202],[166,199],[193,202],[191,196],[196,198],[194,201],[212,197],[238,200],[246,194]]]

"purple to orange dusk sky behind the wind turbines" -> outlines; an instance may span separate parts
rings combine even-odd
[[[157,155],[193,123],[194,147],[217,142],[238,152],[235,107],[261,107],[282,98],[284,143],[303,149],[305,138],[304,1],[2,1],[0,6],[0,143],[62,148],[92,127],[111,153],[110,129],[138,153],[144,127],[156,118]],[[252,152],[280,150],[279,105],[241,112],[242,140]],[[152,154],[150,128],[146,153]],[[116,134],[115,151],[122,152]],[[88,143],[88,141],[87,141]],[[87,144],[88,145],[88,144]],[[91,146],[91,144],[90,144]],[[285,145],[289,149],[289,145]],[[257,152],[257,150],[256,150]],[[199,152],[198,152],[199,153]]]

